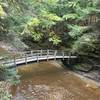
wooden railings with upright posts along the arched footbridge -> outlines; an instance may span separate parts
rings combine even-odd
[[[64,59],[64,56],[71,56],[71,53],[68,53],[67,51],[64,50],[31,50],[31,51],[26,51],[26,52],[21,52],[20,56],[14,56],[12,57],[12,59],[8,59],[6,61],[6,63],[16,63],[16,61],[22,61],[24,60],[27,63],[27,60],[29,58],[34,58],[37,59],[40,57],[50,57],[50,56],[54,56],[54,58],[56,59],[57,56],[62,56],[62,58]],[[3,62],[5,63],[5,62]]]

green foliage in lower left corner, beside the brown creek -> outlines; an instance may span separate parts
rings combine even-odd
[[[8,58],[6,57],[4,60]],[[11,100],[12,95],[9,87],[10,85],[18,85],[20,82],[19,78],[20,76],[15,68],[8,68],[4,64],[0,66],[0,80],[4,80],[0,82],[0,100]]]

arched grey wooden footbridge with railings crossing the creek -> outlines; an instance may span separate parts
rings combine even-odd
[[[74,59],[77,56],[72,55],[66,51],[60,50],[32,50],[27,52],[20,53],[19,56],[14,56],[11,59],[7,59],[3,61],[2,64],[7,66],[17,66],[22,64],[28,64],[32,62],[39,62],[39,61],[48,61],[48,60],[56,60],[56,59]]]

